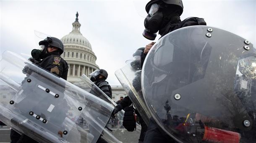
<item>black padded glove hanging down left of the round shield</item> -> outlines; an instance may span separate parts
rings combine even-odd
[[[133,106],[125,107],[123,127],[129,132],[136,130],[136,116]]]

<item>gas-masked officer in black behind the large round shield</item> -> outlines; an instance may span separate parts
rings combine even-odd
[[[160,38],[166,34],[186,26],[206,25],[203,18],[189,17],[185,20],[180,20],[180,15],[183,13],[182,0],[150,0],[146,4],[147,17],[144,20],[145,30],[143,36],[149,40],[155,40],[157,31]],[[146,45],[143,54],[141,55],[141,63],[143,64],[146,54],[152,48],[155,42]],[[175,142],[169,135],[167,135],[157,123],[151,119],[148,130],[146,132],[146,143],[155,142]]]

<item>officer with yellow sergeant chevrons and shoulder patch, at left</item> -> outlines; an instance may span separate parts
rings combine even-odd
[[[60,39],[55,37],[47,37],[43,41],[39,42],[39,46],[42,49],[33,49],[31,51],[31,56],[29,60],[34,64],[42,67],[43,69],[55,74],[58,77],[61,77],[67,80],[68,76],[68,64],[67,62],[60,56],[64,51],[63,43]],[[27,67],[24,67],[24,70],[29,70]],[[29,72],[29,71],[26,71]],[[11,143],[37,143],[37,141],[29,138],[26,135],[19,135],[14,130],[11,130],[10,133]]]

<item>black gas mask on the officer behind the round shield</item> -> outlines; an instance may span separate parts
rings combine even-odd
[[[149,40],[155,40],[157,37],[157,31],[162,26],[162,19],[163,19],[163,13],[159,11],[160,5],[153,4],[149,10],[149,14],[144,20],[144,26],[145,30],[142,33],[142,35],[149,39]]]

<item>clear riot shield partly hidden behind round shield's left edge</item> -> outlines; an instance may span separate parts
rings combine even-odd
[[[126,61],[126,66],[115,71],[115,76],[125,89],[133,105],[138,110],[140,116],[143,118],[146,125],[149,125],[149,118],[151,117],[149,110],[144,102],[141,90],[141,69],[137,67],[135,61]],[[138,63],[139,66],[141,63]]]

